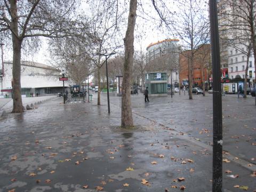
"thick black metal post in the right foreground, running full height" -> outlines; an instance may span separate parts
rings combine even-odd
[[[217,1],[209,0],[213,79],[212,191],[222,191],[222,99]]]

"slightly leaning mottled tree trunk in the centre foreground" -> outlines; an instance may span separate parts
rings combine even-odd
[[[134,27],[136,20],[137,0],[130,0],[130,12],[128,26],[124,38],[124,68],[123,68],[123,94],[122,94],[122,127],[132,127],[132,106],[131,106],[131,79],[134,53]]]

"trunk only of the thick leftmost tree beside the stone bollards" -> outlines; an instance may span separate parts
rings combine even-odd
[[[18,14],[17,14],[17,1],[10,1],[10,10],[12,13],[11,28],[12,32],[12,91],[13,91],[13,109],[12,113],[22,113],[22,99],[21,99],[21,84],[20,84],[20,60],[21,60],[21,44],[22,40],[18,37]]]

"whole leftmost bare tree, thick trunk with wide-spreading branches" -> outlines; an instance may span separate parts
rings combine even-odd
[[[36,42],[39,36],[63,37],[72,33],[76,28],[76,21],[71,19],[71,14],[74,13],[76,4],[75,0],[1,1],[0,31],[6,37],[12,37],[13,47],[12,113],[23,111],[20,61],[24,40]]]

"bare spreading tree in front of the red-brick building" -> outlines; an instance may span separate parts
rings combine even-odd
[[[159,17],[165,23],[170,33],[178,36],[183,43],[183,50],[190,50],[183,53],[188,53],[189,58],[189,99],[192,97],[192,79],[193,79],[193,60],[197,47],[209,42],[209,19],[205,1],[188,0],[188,1],[173,1],[164,2],[163,0],[151,0]],[[171,6],[177,4],[179,12],[171,11]]]

